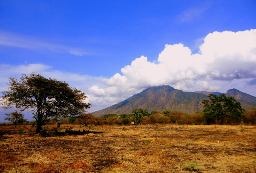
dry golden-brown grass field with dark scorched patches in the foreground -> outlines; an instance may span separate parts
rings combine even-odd
[[[46,138],[34,130],[0,127],[0,172],[256,172],[255,126],[102,125]]]

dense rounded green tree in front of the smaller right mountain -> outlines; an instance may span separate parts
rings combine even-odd
[[[209,94],[209,100],[203,100],[204,119],[207,124],[211,124],[215,119],[221,120],[223,124],[224,118],[234,118],[237,120],[244,119],[244,109],[241,103],[237,102],[234,97],[227,97],[225,94],[220,96]]]

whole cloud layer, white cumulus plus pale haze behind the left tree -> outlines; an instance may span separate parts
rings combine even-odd
[[[170,85],[183,91],[219,91],[236,88],[255,94],[256,29],[208,34],[200,53],[192,54],[182,43],[165,45],[157,61],[141,56],[111,78],[91,77],[54,70],[43,64],[0,65],[0,88],[9,77],[41,73],[83,89],[92,104],[89,111],[104,109],[150,86]]]

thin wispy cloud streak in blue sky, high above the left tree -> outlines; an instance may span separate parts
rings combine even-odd
[[[49,42],[39,41],[36,38],[21,36],[18,34],[0,32],[0,45],[12,46],[24,49],[48,49],[58,53],[70,53],[76,56],[84,56],[90,53],[79,48],[68,47],[60,44],[53,44]]]

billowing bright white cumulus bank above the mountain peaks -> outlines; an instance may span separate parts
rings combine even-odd
[[[230,86],[246,88],[249,81],[254,84],[255,66],[256,29],[213,32],[204,38],[196,54],[182,43],[165,45],[156,62],[149,62],[145,56],[136,58],[121,73],[101,79],[102,84],[93,86],[89,93],[94,99],[103,97],[110,102],[113,97],[113,101],[120,102],[147,87],[160,85],[183,91],[226,92]]]

